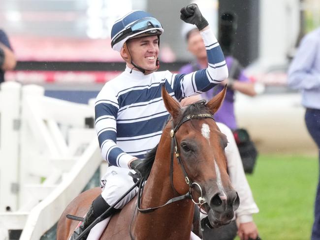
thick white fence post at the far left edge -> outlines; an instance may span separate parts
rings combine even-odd
[[[20,90],[16,82],[0,86],[0,212],[19,205]]]

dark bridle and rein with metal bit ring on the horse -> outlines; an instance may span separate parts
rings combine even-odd
[[[171,136],[171,147],[170,147],[170,181],[171,181],[171,186],[173,188],[173,190],[179,194],[176,189],[174,188],[173,185],[173,160],[174,160],[174,154],[176,156],[176,159],[178,161],[178,164],[181,166],[181,169],[185,175],[185,181],[186,183],[189,185],[189,191],[184,194],[184,195],[180,195],[178,197],[174,197],[171,198],[170,200],[168,200],[165,204],[158,206],[158,207],[154,207],[154,208],[147,208],[147,209],[141,209],[141,197],[142,197],[142,192],[143,192],[143,188],[144,188],[144,183],[145,180],[143,179],[140,184],[139,184],[139,189],[138,189],[138,201],[137,201],[137,209],[141,212],[141,213],[148,213],[148,212],[152,212],[154,210],[157,210],[159,208],[162,208],[168,204],[183,200],[183,199],[191,199],[192,202],[196,205],[200,205],[202,206],[203,204],[206,203],[204,197],[202,196],[202,188],[200,186],[199,183],[197,182],[192,182],[192,180],[190,180],[188,173],[186,171],[185,165],[183,164],[183,161],[180,157],[179,154],[179,150],[177,147],[177,139],[176,139],[176,132],[178,131],[178,129],[180,128],[180,126],[185,123],[186,121],[192,120],[192,119],[199,119],[199,118],[210,118],[213,119],[213,116],[211,114],[194,114],[194,115],[187,115],[185,116],[175,127],[173,125],[173,121],[172,121],[172,128],[170,131],[170,136]],[[198,198],[197,202],[193,199],[192,197],[192,188],[193,186],[197,186],[200,190],[200,197]]]

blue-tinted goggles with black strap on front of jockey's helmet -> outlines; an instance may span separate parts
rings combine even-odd
[[[142,18],[136,22],[134,22],[132,25],[130,25],[126,30],[119,32],[111,41],[111,47],[115,45],[116,43],[120,42],[121,40],[125,38],[129,38],[128,36],[132,35],[138,35],[140,32],[147,32],[145,30],[150,29],[150,35],[157,34],[157,30],[160,30],[161,33],[163,31],[162,26],[160,22],[153,18],[153,17],[146,17]]]

